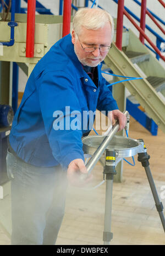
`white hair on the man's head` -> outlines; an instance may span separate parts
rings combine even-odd
[[[113,18],[108,12],[106,12],[106,10],[101,8],[80,8],[73,18],[73,30],[79,35],[83,27],[86,29],[97,30],[103,28],[108,21],[112,29],[111,38],[113,38]]]

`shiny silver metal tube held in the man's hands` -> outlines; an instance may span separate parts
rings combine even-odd
[[[128,111],[125,111],[124,115],[128,116],[129,115]],[[103,141],[100,144],[100,146],[98,146],[98,148],[96,149],[94,155],[87,162],[86,168],[87,168],[88,172],[91,172],[91,170],[95,167],[95,165],[97,164],[98,160],[101,158],[103,152],[106,150],[109,142],[112,140],[114,134],[116,134],[118,132],[118,129],[119,129],[119,122],[117,121],[116,124],[114,124],[112,130],[109,132],[109,134],[107,134],[105,139],[103,139]]]

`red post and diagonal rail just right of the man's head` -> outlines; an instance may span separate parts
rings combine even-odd
[[[123,17],[123,15],[122,15],[122,11],[123,11],[123,14],[131,21],[131,23],[135,26],[135,28],[140,31],[142,37],[144,37],[150,43],[150,45],[153,47],[153,49],[156,51],[156,53],[163,59],[163,61],[165,61],[165,57],[162,55],[161,51],[153,44],[153,42],[149,39],[149,37],[145,34],[145,32],[140,28],[140,26],[138,26],[135,23],[133,18],[131,18],[130,15],[128,14],[128,12],[124,9],[124,0],[118,1],[118,9],[119,8],[121,8],[121,10],[118,10],[119,21],[117,18],[117,24],[122,22],[122,23],[120,23],[120,26],[122,27],[122,29],[119,28],[119,26],[117,26],[116,46],[119,48],[119,50],[122,50],[122,35],[123,35],[123,25],[122,24],[123,24],[123,21],[121,21],[121,17]]]

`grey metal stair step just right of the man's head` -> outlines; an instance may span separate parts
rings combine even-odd
[[[139,63],[150,60],[150,53],[134,52],[134,51],[123,51],[132,63]]]

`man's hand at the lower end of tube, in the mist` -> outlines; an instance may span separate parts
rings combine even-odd
[[[82,159],[74,159],[68,165],[68,181],[76,187],[84,187],[92,179],[92,175],[87,175],[87,169]]]

